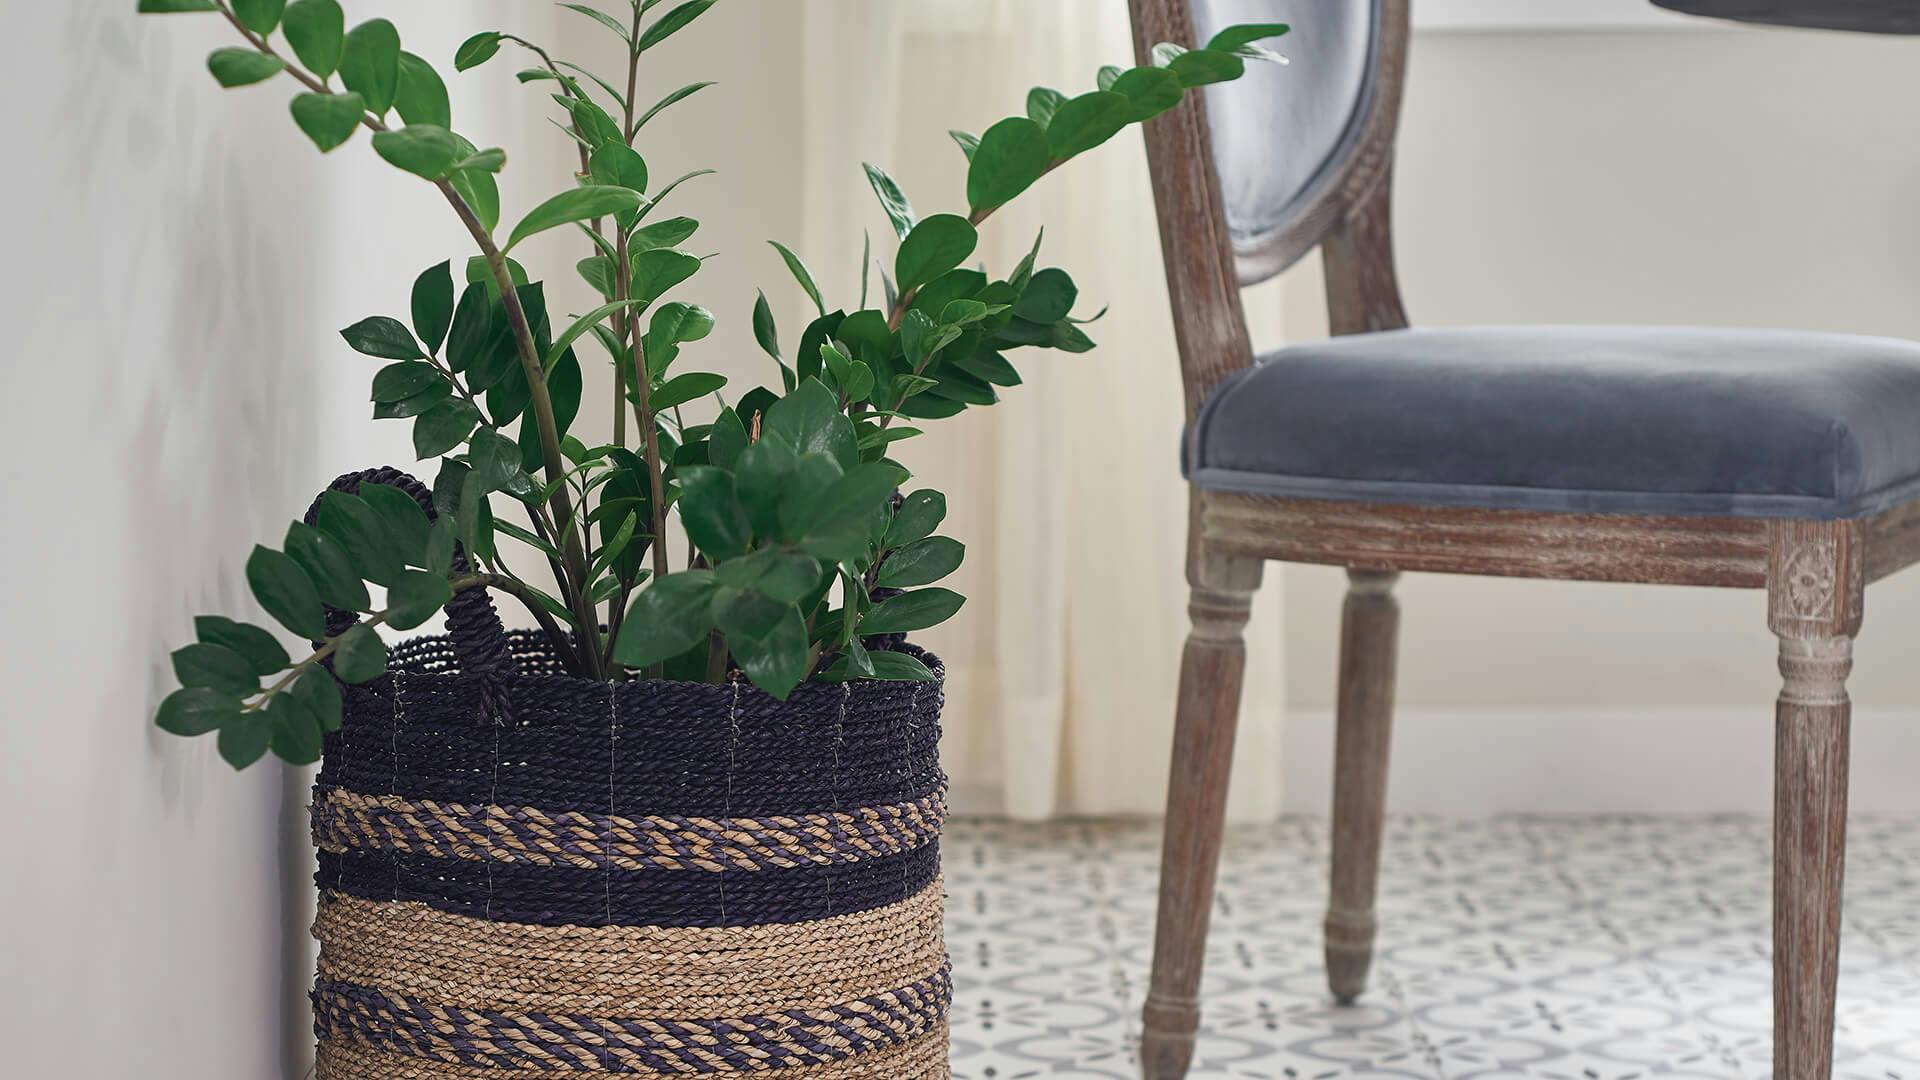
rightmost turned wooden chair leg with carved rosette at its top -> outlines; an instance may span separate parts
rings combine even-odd
[[[1784,676],[1774,713],[1774,1080],[1834,1072],[1860,567],[1855,523],[1770,527],[1766,613]]]

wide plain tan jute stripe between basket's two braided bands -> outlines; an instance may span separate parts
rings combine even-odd
[[[904,903],[764,926],[534,926],[328,892],[321,980],[461,1009],[735,1017],[908,986],[945,963],[939,880]]]

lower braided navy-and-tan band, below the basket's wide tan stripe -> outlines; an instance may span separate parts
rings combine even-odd
[[[845,1061],[937,1030],[952,974],[826,1009],[712,1020],[457,1009],[351,982],[313,990],[313,1030],[384,1051],[468,1067],[553,1072],[766,1070]]]

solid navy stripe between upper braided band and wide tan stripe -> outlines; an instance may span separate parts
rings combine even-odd
[[[321,851],[315,884],[417,901],[472,919],[540,926],[760,926],[900,903],[933,884],[939,844],[852,865],[705,874],[609,874],[394,851]]]

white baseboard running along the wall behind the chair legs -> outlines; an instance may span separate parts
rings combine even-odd
[[[1766,709],[1411,709],[1394,721],[1392,813],[1768,813]],[[1284,805],[1327,813],[1332,715],[1286,717]],[[1920,813],[1920,709],[1853,717],[1853,813]]]

